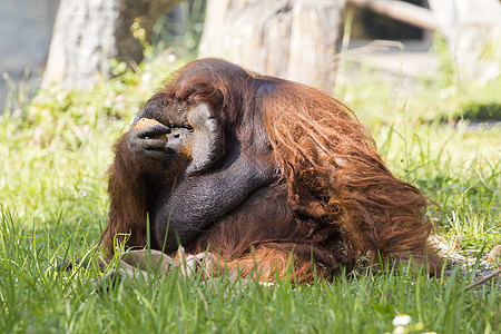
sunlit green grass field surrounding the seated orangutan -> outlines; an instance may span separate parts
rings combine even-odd
[[[0,333],[501,332],[500,281],[465,289],[479,266],[450,266],[441,278],[367,271],[302,287],[238,287],[226,277],[205,286],[173,274],[101,293],[91,289],[95,269],[55,271],[92,254],[107,220],[110,147],[179,65],[158,59],[89,92],[42,91],[0,116]],[[338,92],[395,175],[433,200],[436,233],[480,259],[501,244],[501,127],[455,120],[472,104],[499,112],[501,80],[453,82],[407,88],[366,72]]]

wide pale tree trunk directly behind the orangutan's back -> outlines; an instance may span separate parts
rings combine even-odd
[[[332,92],[345,0],[208,0],[199,57]]]

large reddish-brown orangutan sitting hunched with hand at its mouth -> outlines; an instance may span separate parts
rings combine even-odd
[[[157,120],[135,129],[141,118]],[[156,137],[167,135],[168,140]],[[327,95],[223,60],[188,63],[115,146],[101,239],[223,266],[326,276],[357,257],[423,261],[426,199],[396,179],[351,110]],[[128,238],[124,235],[128,234]],[[294,279],[295,279],[294,278]]]

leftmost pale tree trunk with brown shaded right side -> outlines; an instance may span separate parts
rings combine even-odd
[[[109,59],[143,60],[135,19],[149,41],[155,22],[180,0],[61,0],[42,86],[86,89],[109,73]]]

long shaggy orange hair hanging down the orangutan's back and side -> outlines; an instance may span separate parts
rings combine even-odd
[[[291,206],[338,226],[350,259],[412,255],[422,263],[432,229],[426,198],[392,175],[346,106],[303,85],[275,82],[263,114]]]

